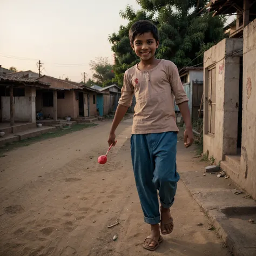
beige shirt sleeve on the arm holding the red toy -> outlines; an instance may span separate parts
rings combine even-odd
[[[130,107],[132,105],[133,86],[130,82],[127,71],[124,73],[124,84],[121,90],[121,97],[118,104]]]

